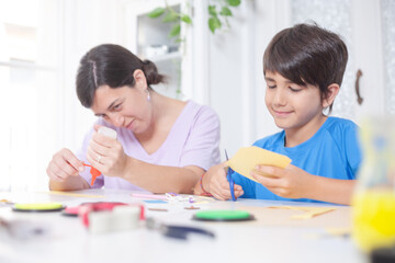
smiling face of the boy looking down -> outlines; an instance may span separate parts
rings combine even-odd
[[[323,117],[319,89],[298,85],[278,72],[267,71],[264,102],[279,128],[297,132],[317,130]]]

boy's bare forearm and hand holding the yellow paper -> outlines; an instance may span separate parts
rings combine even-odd
[[[313,175],[295,167],[285,169],[259,165],[251,175],[272,193],[286,198],[311,198],[341,205],[350,205],[354,180],[328,179]]]

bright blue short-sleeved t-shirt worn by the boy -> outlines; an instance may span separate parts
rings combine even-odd
[[[271,150],[292,159],[292,164],[304,171],[330,179],[356,179],[361,163],[361,150],[358,141],[358,126],[348,119],[328,117],[317,133],[295,147],[284,147],[285,132],[257,140],[253,146]],[[236,172],[233,173],[236,184],[241,185],[244,198],[290,199],[273,194],[263,185],[253,182]]]

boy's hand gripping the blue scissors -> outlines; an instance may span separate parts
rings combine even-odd
[[[223,162],[208,169],[208,171],[203,178],[202,183],[204,190],[211,193],[217,199],[225,201],[232,198],[229,182],[226,179],[226,162]],[[240,185],[235,184],[234,190],[236,197],[239,197],[244,194]]]

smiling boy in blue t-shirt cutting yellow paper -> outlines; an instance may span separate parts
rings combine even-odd
[[[235,195],[245,198],[349,204],[361,162],[358,127],[328,117],[348,60],[346,44],[317,25],[297,24],[278,33],[263,55],[266,105],[283,130],[253,146],[292,159],[285,169],[258,165],[256,183],[233,173]],[[225,164],[211,168],[195,191],[230,197]]]

